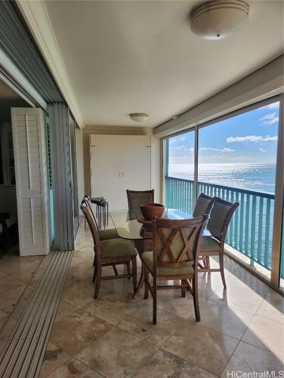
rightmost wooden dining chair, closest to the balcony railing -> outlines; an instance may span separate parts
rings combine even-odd
[[[220,236],[203,236],[201,239],[198,259],[203,261],[203,266],[199,264],[199,271],[204,273],[220,272],[224,288],[226,288],[224,275],[224,244],[226,232],[232,216],[239,205],[239,202],[232,203],[217,198],[213,205],[207,228],[209,231],[212,230],[215,235],[219,234]],[[210,268],[210,256],[219,256],[219,269]]]

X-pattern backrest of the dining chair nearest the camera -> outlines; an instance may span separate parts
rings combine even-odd
[[[153,273],[157,266],[197,267],[195,258],[208,215],[186,220],[152,219]]]

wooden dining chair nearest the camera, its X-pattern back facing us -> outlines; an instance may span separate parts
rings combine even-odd
[[[145,293],[148,298],[150,291],[153,298],[153,324],[157,323],[157,290],[180,289],[185,297],[189,289],[194,302],[196,321],[200,321],[198,303],[198,256],[201,236],[208,215],[190,220],[169,220],[153,217],[153,252],[144,252]],[[153,285],[149,283],[149,273],[153,277]],[[158,281],[181,280],[179,285],[157,285]],[[192,284],[190,283],[192,281]]]

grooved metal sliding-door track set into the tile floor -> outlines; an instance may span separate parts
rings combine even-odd
[[[54,251],[0,355],[1,378],[38,377],[73,251]]]

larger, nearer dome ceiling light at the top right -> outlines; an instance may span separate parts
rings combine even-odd
[[[207,1],[190,15],[190,29],[205,39],[223,39],[249,21],[249,5],[242,0]]]

